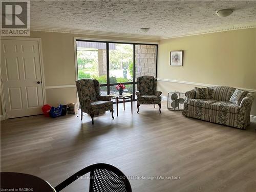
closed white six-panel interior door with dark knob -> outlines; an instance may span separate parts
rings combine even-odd
[[[44,100],[38,41],[1,39],[1,73],[6,118],[41,114]]]

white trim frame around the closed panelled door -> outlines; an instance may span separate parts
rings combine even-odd
[[[38,50],[39,50],[39,61],[40,61],[40,70],[41,70],[41,80],[42,80],[42,102],[46,104],[46,89],[45,89],[45,71],[44,71],[44,62],[42,59],[42,43],[41,38],[32,38],[32,37],[10,37],[10,36],[1,36],[0,40],[27,40],[27,41],[37,41]],[[0,48],[1,49],[1,48]],[[3,111],[3,119],[6,120],[6,108],[5,108],[5,97],[3,92],[3,81],[2,81],[2,73],[0,71],[1,78],[1,102],[2,102],[2,111]]]

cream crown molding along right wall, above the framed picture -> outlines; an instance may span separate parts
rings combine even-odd
[[[183,33],[183,34],[174,34],[169,37],[160,37],[159,40],[178,38],[178,37],[186,37],[186,36],[194,36],[194,35],[203,35],[203,34],[208,34],[208,33],[218,33],[218,32],[224,32],[224,31],[233,31],[233,30],[239,30],[239,29],[250,29],[250,28],[256,28],[256,23],[230,25],[230,26],[220,27],[220,28],[215,28],[215,29],[200,30],[200,31],[194,31],[194,32]]]

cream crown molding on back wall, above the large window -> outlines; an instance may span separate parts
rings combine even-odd
[[[72,33],[72,34],[80,34],[80,35],[104,36],[104,37],[107,36],[107,37],[120,37],[120,38],[148,39],[148,40],[157,40],[157,41],[160,39],[160,36],[153,36],[153,35],[138,35],[138,34],[129,34],[129,33],[114,33],[114,32],[39,27],[39,26],[31,26],[30,30],[43,31],[43,32],[55,32],[55,33]]]

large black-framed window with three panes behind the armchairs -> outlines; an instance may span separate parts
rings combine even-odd
[[[135,99],[137,77],[156,76],[157,45],[76,40],[76,54],[78,79],[97,79],[101,95],[116,93],[121,82]]]

